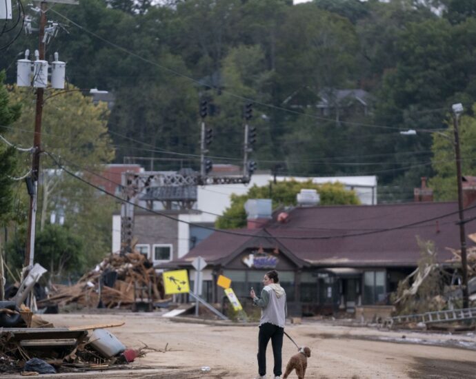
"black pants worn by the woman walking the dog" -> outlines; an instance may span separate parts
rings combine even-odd
[[[272,356],[275,358],[275,367],[272,372],[275,376],[281,376],[281,349],[283,347],[284,328],[272,325],[269,322],[259,327],[258,335],[258,373],[261,376],[266,375],[266,347],[271,339]]]

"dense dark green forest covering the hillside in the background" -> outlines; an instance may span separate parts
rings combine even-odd
[[[403,201],[433,175],[432,141],[397,132],[445,127],[452,103],[470,110],[476,99],[469,0],[81,0],[48,18],[69,34],[60,31],[46,57],[59,51],[77,88],[115,93],[108,129],[117,163],[143,156],[157,170],[198,169],[200,99],[213,105],[213,161],[241,161],[241,110],[251,101],[260,169],[376,174],[388,186],[379,201]],[[37,37],[21,33],[2,51],[9,83],[18,52]],[[368,112],[339,109],[344,89],[369,92]],[[326,110],[316,106],[323,100]],[[395,186],[406,193],[391,193]]]

